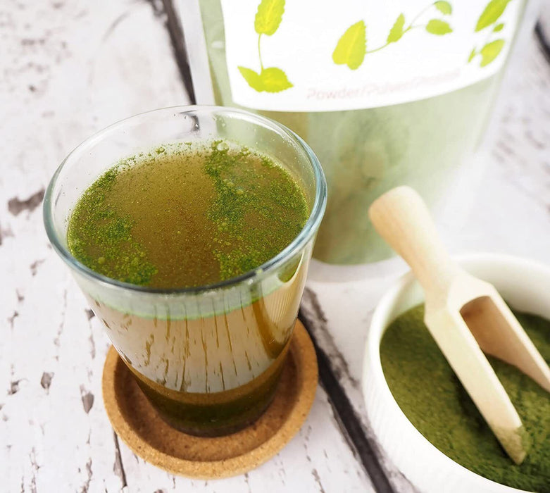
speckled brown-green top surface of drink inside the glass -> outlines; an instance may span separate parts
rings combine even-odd
[[[223,140],[125,158],[82,194],[70,252],[115,280],[209,285],[254,270],[299,235],[304,192],[270,157]]]

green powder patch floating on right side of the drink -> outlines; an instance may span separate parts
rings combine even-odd
[[[256,166],[243,166],[251,158]],[[267,156],[254,157],[246,147],[235,152],[218,141],[206,156],[205,171],[215,189],[208,219],[218,230],[213,253],[220,261],[221,279],[252,270],[277,255],[288,242],[281,242],[280,227],[287,230],[283,237],[292,239],[306,224],[304,195]],[[227,241],[228,236],[238,241]]]

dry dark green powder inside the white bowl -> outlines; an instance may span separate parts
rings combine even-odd
[[[515,316],[550,361],[550,322],[524,313]],[[550,492],[550,394],[520,370],[489,356],[530,435],[527,458],[516,466],[439,351],[423,318],[423,306],[402,314],[380,344],[384,375],[401,410],[437,449],[474,473],[502,485]]]

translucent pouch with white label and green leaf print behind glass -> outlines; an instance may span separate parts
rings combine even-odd
[[[525,0],[180,1],[197,102],[273,118],[317,154],[329,198],[313,255],[339,264],[389,256],[367,215],[387,189],[411,185],[429,204],[445,196],[533,9]]]

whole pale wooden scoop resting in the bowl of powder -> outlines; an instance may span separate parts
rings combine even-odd
[[[496,289],[451,260],[430,212],[413,189],[390,190],[368,213],[422,285],[424,320],[439,349],[508,456],[521,463],[527,436],[482,351],[516,366],[549,392],[550,368]]]

